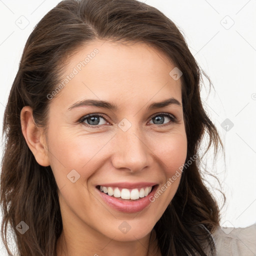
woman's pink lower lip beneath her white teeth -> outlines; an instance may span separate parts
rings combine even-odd
[[[109,196],[105,194],[104,192],[101,192],[96,188],[96,190],[99,192],[101,198],[106,202],[107,205],[111,206],[112,208],[122,211],[122,212],[127,212],[127,213],[132,213],[132,212],[138,212],[144,209],[147,205],[150,204],[149,197],[154,194],[155,190],[157,188],[157,185],[153,187],[151,192],[142,198],[139,198],[137,200],[119,200],[118,198],[114,196]]]

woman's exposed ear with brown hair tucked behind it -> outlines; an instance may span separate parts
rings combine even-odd
[[[50,165],[48,150],[42,129],[35,125],[33,110],[30,106],[24,106],[20,111],[20,122],[23,136],[35,160],[42,166]]]

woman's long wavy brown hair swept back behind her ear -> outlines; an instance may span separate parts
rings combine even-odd
[[[62,230],[58,187],[50,166],[39,165],[29,150],[21,131],[20,111],[23,106],[31,106],[35,124],[46,132],[47,95],[59,83],[62,60],[95,39],[147,43],[182,71],[186,162],[197,155],[205,134],[209,138],[206,151],[213,146],[216,154],[219,145],[223,148],[201,103],[199,92],[204,72],[169,18],[137,0],[63,0],[39,21],[28,37],[4,112],[1,236],[9,255],[12,254],[6,237],[8,225],[14,232],[20,256],[56,255],[56,241]],[[210,232],[219,225],[219,207],[203,183],[199,164],[198,157],[184,169],[176,194],[154,226],[163,256],[206,255],[205,241],[211,253],[215,253]],[[20,221],[29,226],[24,234],[15,228]]]

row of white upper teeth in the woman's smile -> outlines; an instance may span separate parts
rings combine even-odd
[[[136,200],[139,197],[147,196],[151,192],[152,187],[146,186],[144,188],[133,188],[129,190],[128,188],[122,188],[121,190],[118,187],[111,186],[100,186],[99,190],[101,192],[107,193],[108,195],[113,195],[114,197],[121,197],[122,199],[132,199]]]

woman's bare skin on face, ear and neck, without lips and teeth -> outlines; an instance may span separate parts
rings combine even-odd
[[[78,70],[77,63],[95,48],[98,53]],[[169,75],[175,65],[144,43],[127,46],[99,40],[67,61],[62,78],[74,67],[78,73],[50,100],[47,136],[34,125],[29,106],[20,113],[30,150],[40,165],[51,166],[59,188],[63,230],[57,256],[159,256],[150,232],[173,198],[181,175],[148,206],[132,213],[105,203],[96,186],[154,182],[160,189],[185,162],[181,81]],[[147,109],[171,97],[180,104]],[[105,100],[117,108],[68,109],[84,99]],[[97,124],[89,118],[79,122],[88,114],[103,116],[94,115]],[[156,122],[156,116],[162,123]],[[130,125],[125,131],[118,126],[123,118],[126,127]],[[74,174],[75,182],[67,178],[73,169],[79,174]],[[119,228],[123,221],[130,226],[126,233]]]

